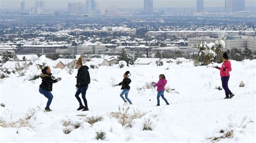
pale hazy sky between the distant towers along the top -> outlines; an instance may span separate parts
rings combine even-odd
[[[0,0],[1,9],[19,9],[22,0]],[[26,9],[33,6],[35,0],[24,0]],[[85,0],[44,0],[46,9],[66,9],[68,2],[82,2]],[[197,0],[154,0],[154,8],[191,8],[196,7]],[[223,6],[225,0],[204,0],[206,7]],[[143,8],[143,0],[96,0],[100,7],[117,5],[118,8]],[[256,6],[256,0],[245,0],[246,6]]]

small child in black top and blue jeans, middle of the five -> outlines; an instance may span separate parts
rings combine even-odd
[[[125,105],[127,104],[127,101],[128,101],[130,104],[132,104],[132,102],[131,102],[130,99],[128,98],[128,94],[129,94],[129,91],[130,91],[130,86],[129,86],[129,84],[132,82],[131,79],[128,78],[128,77],[129,77],[129,74],[130,74],[130,71],[126,71],[126,72],[124,73],[124,79],[123,79],[123,81],[120,82],[119,84],[117,84],[117,85],[119,85],[119,86],[122,85],[122,88],[121,88],[121,89],[123,89],[123,91],[122,91],[122,93],[120,94],[120,97],[123,99]],[[123,95],[125,95],[125,98],[124,98]],[[126,100],[127,100],[127,101],[126,101]]]

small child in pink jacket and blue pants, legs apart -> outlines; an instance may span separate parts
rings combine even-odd
[[[167,83],[167,80],[165,80],[165,75],[163,74],[160,74],[159,75],[159,81],[158,83],[156,82],[153,82],[153,86],[154,87],[157,87],[157,106],[160,106],[160,96],[164,99],[166,105],[170,105],[167,101],[167,99],[164,97],[164,90],[165,90],[165,85]]]

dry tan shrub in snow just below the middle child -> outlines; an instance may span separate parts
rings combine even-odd
[[[129,113],[130,107],[125,108],[118,108],[117,112],[111,112],[110,116],[113,118],[116,118],[120,124],[123,126],[129,126],[131,127],[132,125],[132,120],[133,119],[139,119],[142,118],[143,116],[146,115],[146,112],[142,112],[139,110],[133,110],[132,113]]]

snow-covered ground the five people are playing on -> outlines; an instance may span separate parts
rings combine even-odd
[[[1,125],[5,121],[6,127],[0,127],[0,141],[97,141],[97,132],[104,132],[104,141],[211,142],[214,137],[224,137],[219,141],[255,142],[255,60],[231,63],[229,87],[235,94],[232,99],[223,99],[224,90],[215,89],[221,87],[221,80],[213,65],[194,67],[192,62],[171,62],[160,67],[136,65],[120,69],[116,65],[90,69],[91,84],[86,94],[90,111],[86,112],[76,111],[77,70],[70,75],[59,69],[52,70],[54,76],[63,79],[53,84],[53,111],[43,112],[47,99],[38,92],[41,79],[26,80],[35,73],[36,67],[31,66],[25,76],[11,74],[1,81],[1,103],[5,104],[5,108],[0,107]],[[132,80],[129,98],[133,105],[129,105],[129,112],[147,112],[142,118],[133,119],[131,126],[122,126],[110,116],[119,106],[128,107],[119,97],[120,87],[113,87],[122,81],[126,70],[131,71]],[[159,74],[165,74],[168,81],[169,93],[165,92],[165,97],[170,105],[160,99],[160,106],[156,107],[157,91],[145,89],[145,85],[157,82]],[[239,87],[241,81],[245,87]],[[29,109],[35,112],[26,123],[10,127],[8,123],[25,120]],[[91,116],[103,119],[91,125],[87,123]],[[152,131],[144,131],[149,118]]]

